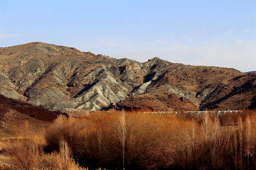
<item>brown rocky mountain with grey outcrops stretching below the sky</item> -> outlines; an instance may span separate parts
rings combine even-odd
[[[40,42],[0,48],[0,94],[53,111],[252,108],[255,79],[232,68],[114,59]]]

